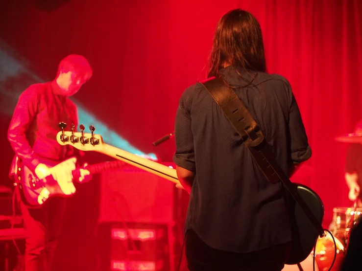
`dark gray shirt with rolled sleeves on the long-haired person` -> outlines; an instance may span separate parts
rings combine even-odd
[[[236,87],[286,173],[290,164],[311,157],[299,108],[284,77],[237,72],[231,66],[220,74]],[[266,180],[200,83],[180,98],[175,140],[173,161],[195,173],[185,230],[192,228],[212,248],[233,252],[257,251],[291,240],[282,184]]]

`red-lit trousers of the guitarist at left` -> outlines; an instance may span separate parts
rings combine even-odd
[[[50,271],[65,211],[65,199],[50,198],[40,208],[20,200],[25,228],[25,271]]]

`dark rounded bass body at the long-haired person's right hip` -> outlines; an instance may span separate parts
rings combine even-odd
[[[319,196],[309,187],[293,183],[297,193],[307,203],[317,221],[321,224],[324,216],[324,206]],[[304,213],[302,208],[290,197],[290,217],[292,244],[288,257],[288,265],[294,265],[304,261],[314,248],[318,238],[318,232]]]

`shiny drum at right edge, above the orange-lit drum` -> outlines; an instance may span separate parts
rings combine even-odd
[[[346,244],[351,226],[355,225],[361,215],[362,208],[357,208],[354,212],[353,207],[335,207],[333,208],[333,221],[330,231]],[[354,215],[353,224],[351,222]]]

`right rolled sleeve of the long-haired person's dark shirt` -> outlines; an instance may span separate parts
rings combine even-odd
[[[300,163],[308,160],[312,156],[312,149],[308,144],[308,138],[302,121],[297,102],[291,92],[290,84],[287,83],[290,95],[289,110],[289,132],[290,132],[290,152],[293,163]]]

